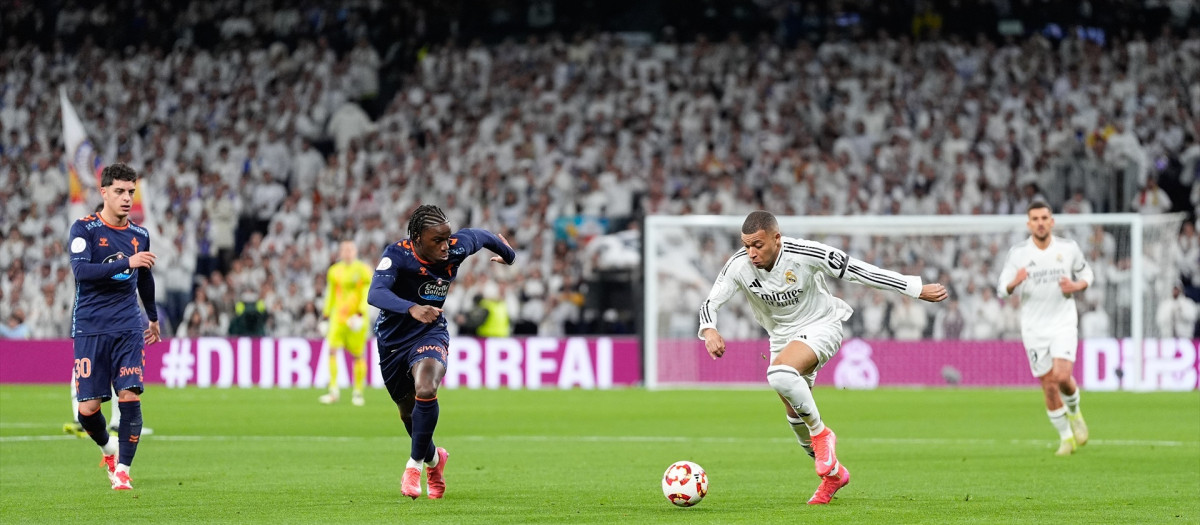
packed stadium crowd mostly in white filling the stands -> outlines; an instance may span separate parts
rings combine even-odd
[[[419,34],[407,4],[388,17],[254,5],[190,2],[168,28],[184,37],[122,47],[96,29],[113,13],[68,4],[49,47],[11,37],[0,50],[5,333],[70,333],[64,237],[70,213],[98,203],[68,204],[59,86],[101,158],[144,175],[168,334],[318,337],[336,242],[354,240],[373,262],[425,203],[455,228],[504,233],[518,251],[512,267],[462,271],[448,312],[490,296],[518,332],[563,334],[636,330],[636,301],[595,297],[602,276],[636,273],[647,215],[1006,215],[1033,199],[1060,213],[1190,212],[1146,278],[1181,297],[1156,333],[1195,330],[1194,28],[1103,44],[1070,32],[880,31],[794,46],[581,32],[418,48],[385,44],[388,31]],[[394,96],[382,88],[389,76]],[[1118,332],[1129,301],[1118,290],[1136,277],[1118,257],[1124,240],[1105,229],[1072,236],[1099,280],[1085,296],[1084,333]],[[956,298],[926,308],[847,289],[853,332],[1018,337],[1015,309],[992,294],[1008,240],[828,241],[937,278]],[[672,333],[694,333],[695,307],[734,241],[696,249],[707,283],[676,290],[688,300],[666,312]]]

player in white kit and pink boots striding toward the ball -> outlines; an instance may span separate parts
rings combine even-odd
[[[775,216],[766,211],[746,216],[742,243],[700,307],[698,334],[708,354],[714,360],[721,357],[725,339],[716,331],[716,310],[736,292],[745,294],[755,320],[770,337],[767,382],[787,406],[787,422],[821,477],[809,505],[824,505],[850,483],[850,471],[838,461],[836,436],[821,421],[812,381],[841,348],[841,324],[853,313],[850,304],[829,294],[826,276],[930,302],[944,300],[946,288],[923,285],[920,277],[881,270],[820,242],[785,237]]]

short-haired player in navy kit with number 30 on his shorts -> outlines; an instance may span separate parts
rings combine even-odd
[[[130,221],[138,174],[125,164],[101,173],[104,206],[71,225],[67,253],[76,278],[74,381],[79,424],[103,454],[102,465],[114,490],[133,488],[130,465],[142,434],[142,373],[145,345],[162,338],[154,302],[155,255],[150,234]],[[150,320],[142,325],[138,297]],[[108,435],[100,404],[118,392],[121,417],[118,443]]]

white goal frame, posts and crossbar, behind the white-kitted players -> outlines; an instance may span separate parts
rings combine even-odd
[[[1180,221],[1181,213],[1145,216],[1139,213],[1060,213],[1055,215],[1055,227],[1070,225],[1126,225],[1129,227],[1130,242],[1130,272],[1134,276],[1145,274],[1142,258],[1145,228],[1159,225],[1172,221]],[[1006,228],[1012,231],[1026,231],[1026,216],[1022,215],[990,215],[990,216],[778,216],[781,231],[811,231],[817,230],[822,235],[860,235],[869,231],[886,231],[888,229],[902,228],[908,231],[920,231],[920,235],[958,235],[970,233],[1003,233]],[[643,296],[642,296],[642,362],[647,388],[659,388],[659,260],[654,251],[662,242],[660,237],[662,228],[690,227],[690,228],[722,228],[740,229],[745,221],[743,216],[666,216],[652,215],[646,217],[642,242],[643,264]],[[851,254],[853,255],[853,254]],[[715,278],[715,276],[713,276]],[[1133,297],[1145,297],[1144,279],[1132,279],[1130,290]],[[698,312],[700,304],[696,304]],[[1130,301],[1130,338],[1135,342],[1134,348],[1141,349],[1145,334],[1144,318],[1145,304],[1142,301]],[[697,318],[698,319],[698,318]],[[697,320],[698,322],[698,320]],[[1141,360],[1133,360],[1140,368]],[[1141,370],[1128,370],[1139,374]]]

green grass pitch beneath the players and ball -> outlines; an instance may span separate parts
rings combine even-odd
[[[824,507],[804,505],[818,479],[766,385],[444,390],[440,501],[400,495],[385,392],[320,393],[152,387],[155,434],[116,493],[96,446],[60,433],[66,385],[0,386],[0,523],[1200,523],[1198,392],[1084,392],[1092,442],[1057,458],[1034,387],[818,388],[852,472]],[[679,459],[708,471],[696,507],[662,497]]]

